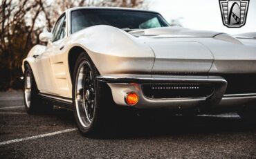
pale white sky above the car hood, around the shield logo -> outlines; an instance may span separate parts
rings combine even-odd
[[[246,25],[223,26],[219,0],[148,0],[149,10],[160,12],[167,20],[180,19],[185,28],[214,30],[229,34],[256,32],[256,0],[250,0]]]

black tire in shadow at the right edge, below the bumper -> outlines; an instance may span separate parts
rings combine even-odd
[[[238,114],[247,124],[256,127],[256,106],[246,106]]]

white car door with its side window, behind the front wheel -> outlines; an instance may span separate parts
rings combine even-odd
[[[60,52],[59,49],[62,45],[62,40],[66,37],[66,15],[61,15],[56,21],[53,28],[53,38],[48,42],[46,51],[39,55],[35,59],[37,71],[39,74],[39,90],[42,93],[49,93],[59,95],[57,84],[55,80],[55,70],[53,68],[53,56],[56,52]]]

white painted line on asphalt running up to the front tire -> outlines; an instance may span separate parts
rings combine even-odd
[[[71,131],[77,131],[77,128],[66,129],[66,130],[62,130],[62,131],[55,131],[53,133],[46,133],[46,134],[42,134],[42,135],[34,135],[34,136],[30,136],[28,138],[19,138],[19,139],[15,139],[15,140],[3,141],[3,142],[0,142],[0,145],[12,144],[12,143],[15,143],[15,142],[33,140],[33,139],[37,139],[37,138],[44,138],[44,137],[51,136],[51,135],[58,135],[58,134],[61,134],[61,133],[68,133],[68,132],[71,132]]]

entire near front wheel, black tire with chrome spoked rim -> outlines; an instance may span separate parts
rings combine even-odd
[[[95,79],[98,75],[100,73],[89,56],[81,53],[73,73],[73,106],[80,133],[90,138],[108,135],[115,124],[116,105],[111,90],[107,84]]]

